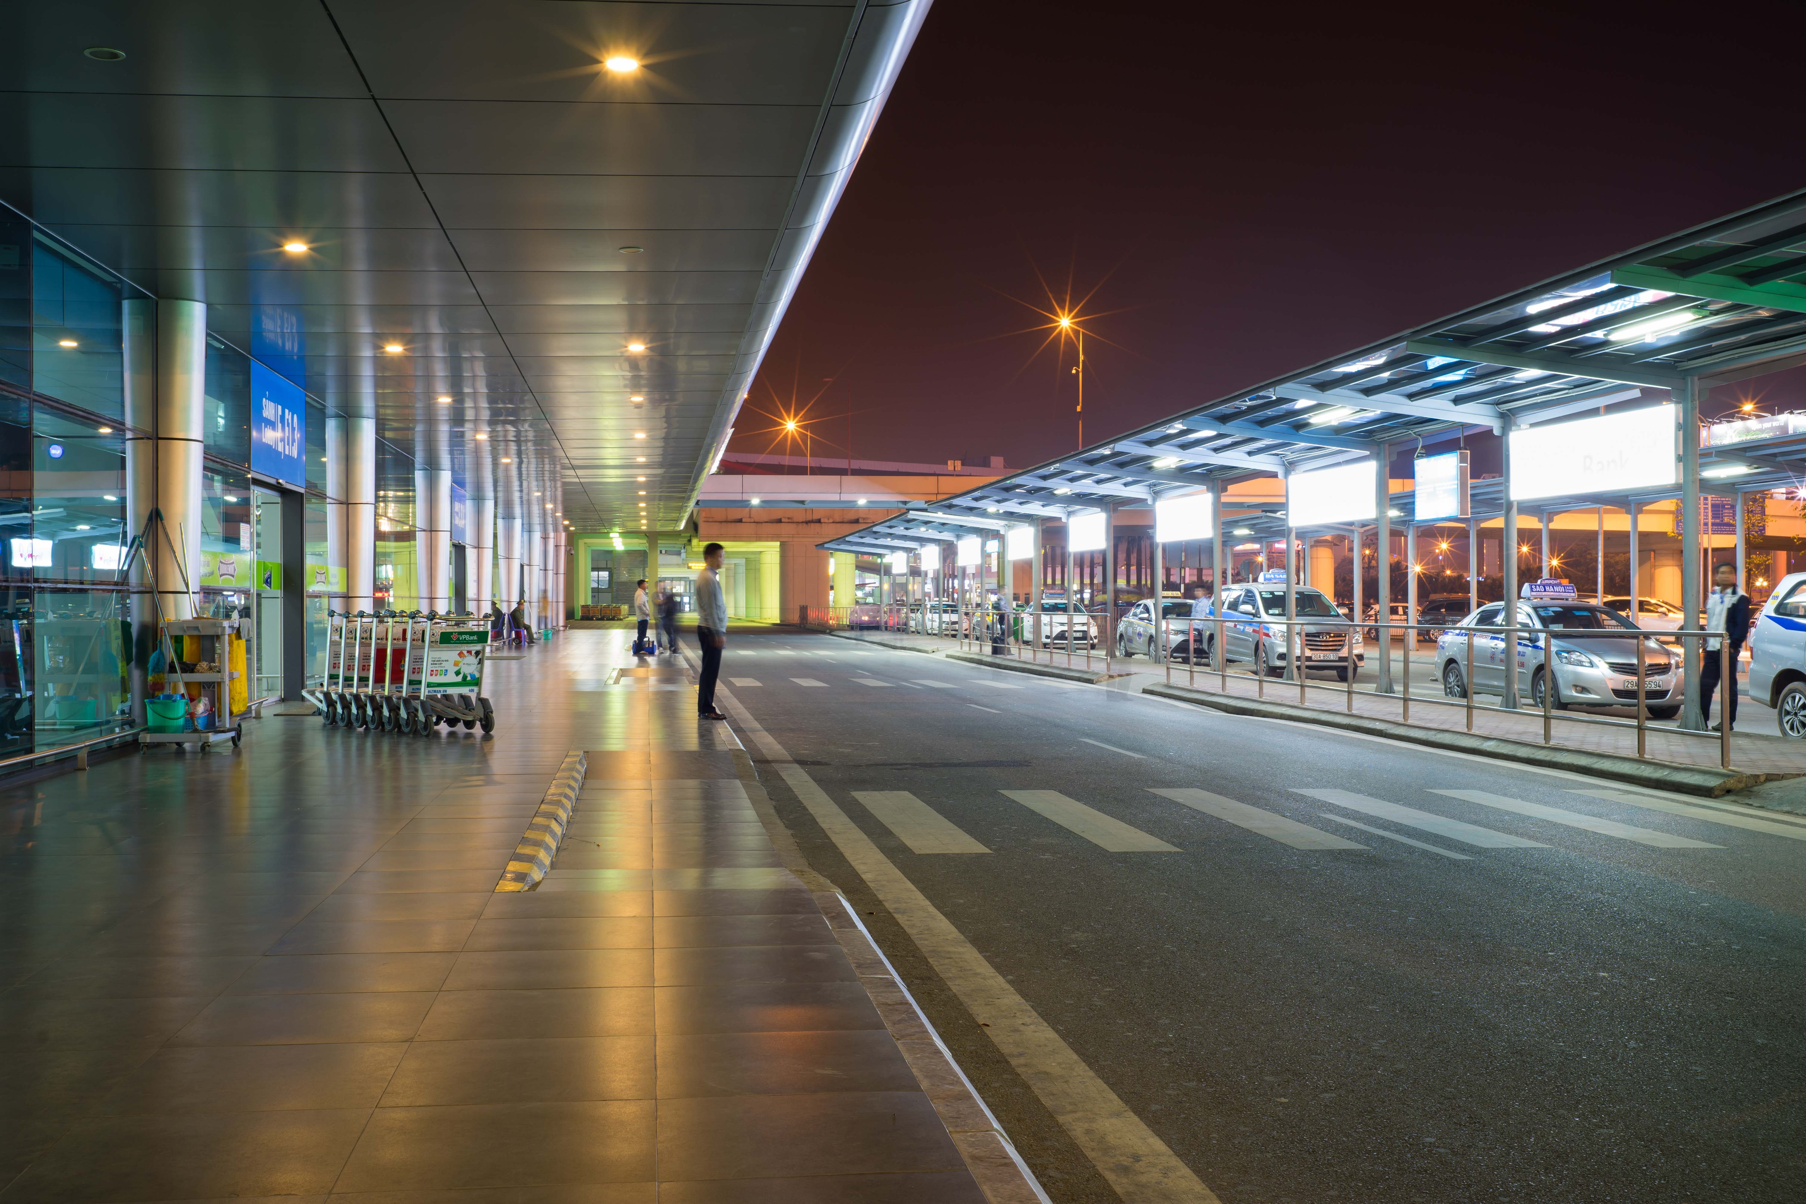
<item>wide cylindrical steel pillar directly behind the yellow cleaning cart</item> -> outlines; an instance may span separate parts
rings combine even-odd
[[[157,301],[157,596],[166,619],[195,616],[200,455],[206,449],[208,307]]]

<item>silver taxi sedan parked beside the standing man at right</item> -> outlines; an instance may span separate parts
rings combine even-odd
[[[1504,603],[1486,603],[1472,616],[1443,632],[1436,641],[1436,666],[1443,693],[1450,699],[1474,693],[1503,695],[1506,673],[1517,673],[1517,693],[1542,708],[1550,673],[1544,646],[1555,666],[1555,693],[1550,708],[1629,706],[1636,708],[1636,639],[1643,641],[1643,704],[1651,718],[1674,718],[1681,709],[1680,657],[1656,643],[1638,637],[1627,617],[1609,607],[1560,597],[1526,597],[1517,605],[1517,648],[1508,632],[1474,632],[1501,626]],[[1474,641],[1474,681],[1468,682],[1468,641]]]

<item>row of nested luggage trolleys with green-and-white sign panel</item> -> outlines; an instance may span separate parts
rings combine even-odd
[[[327,673],[303,697],[329,727],[428,736],[464,724],[495,731],[482,697],[489,621],[437,612],[327,612]]]

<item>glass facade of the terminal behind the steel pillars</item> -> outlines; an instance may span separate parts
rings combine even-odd
[[[0,758],[128,729],[134,666],[155,668],[154,603],[139,585],[134,607],[128,583],[141,534],[132,457],[155,455],[154,431],[125,421],[125,303],[141,300],[150,298],[0,209]],[[305,628],[302,679],[321,681],[327,610],[341,605],[347,572],[341,498],[327,495],[334,415],[305,399],[305,489],[253,475],[253,357],[235,338],[244,341],[229,332],[206,341],[200,576],[188,587],[202,614],[242,621],[242,704],[284,693],[293,668],[284,626],[294,614]],[[256,332],[249,345],[269,352]],[[293,354],[258,359],[289,379],[305,370]],[[376,477],[377,607],[412,610],[421,605],[414,458],[377,440]],[[291,590],[302,603],[293,612]]]

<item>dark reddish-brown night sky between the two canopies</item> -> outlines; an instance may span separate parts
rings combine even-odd
[[[751,406],[1020,468],[1076,448],[1037,269],[1096,442],[1806,186],[1797,5],[1168,7],[936,4]]]

